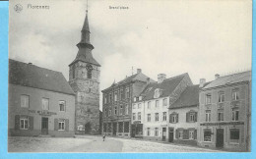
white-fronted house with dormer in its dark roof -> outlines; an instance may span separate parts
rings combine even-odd
[[[169,107],[179,98],[186,87],[192,85],[188,74],[165,79],[158,76],[158,82],[149,83],[140,93],[133,105],[132,122],[140,123],[135,130],[135,136],[151,140],[169,140],[173,136],[169,128]],[[141,116],[141,118],[138,118]],[[142,128],[141,128],[142,127]],[[137,131],[138,130],[138,131]],[[170,136],[171,135],[171,136]]]

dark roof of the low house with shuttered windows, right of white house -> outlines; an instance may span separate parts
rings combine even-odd
[[[169,109],[197,106],[199,104],[199,84],[187,86],[179,98],[169,106]]]

